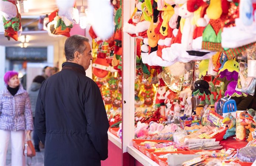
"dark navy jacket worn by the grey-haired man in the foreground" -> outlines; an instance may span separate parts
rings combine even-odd
[[[35,128],[45,144],[45,166],[100,166],[108,157],[109,128],[101,92],[81,65],[62,67],[42,83],[37,98]]]

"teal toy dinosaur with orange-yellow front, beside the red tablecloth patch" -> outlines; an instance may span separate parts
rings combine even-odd
[[[236,118],[229,113],[224,117],[222,123],[227,125],[229,129],[227,129],[226,134],[223,136],[223,139],[227,139],[228,137],[236,134]]]

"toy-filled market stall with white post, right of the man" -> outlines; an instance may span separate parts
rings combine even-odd
[[[124,152],[142,165],[252,165],[255,4],[124,3]]]

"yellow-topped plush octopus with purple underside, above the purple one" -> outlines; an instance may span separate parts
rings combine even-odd
[[[239,63],[234,59],[225,62],[223,68],[219,70],[220,78],[226,77],[228,81],[234,79],[237,81],[239,72]]]

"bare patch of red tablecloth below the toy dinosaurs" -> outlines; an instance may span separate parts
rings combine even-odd
[[[227,150],[229,148],[241,149],[244,148],[248,143],[246,141],[237,141],[236,139],[233,139],[233,137],[234,136],[230,136],[226,140],[221,140],[220,145]]]

